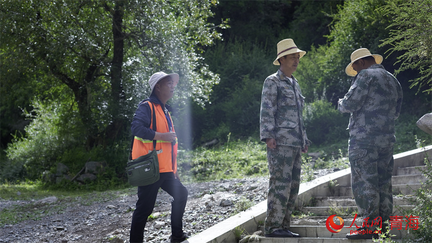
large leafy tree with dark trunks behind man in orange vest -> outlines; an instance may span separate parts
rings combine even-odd
[[[216,3],[1,1],[1,104],[18,104],[23,108],[44,104],[33,110],[30,121],[39,122],[30,124],[27,131],[48,121],[37,119],[47,113],[41,109],[69,107],[61,109],[62,115],[70,118],[62,121],[69,124],[45,125],[82,128],[70,132],[72,137],[83,141],[75,145],[88,150],[111,146],[127,137],[135,104],[149,95],[146,81],[155,71],[180,74],[174,102],[184,103],[190,98],[203,105],[212,86],[219,82],[218,75],[208,70],[200,56],[204,46],[220,38],[218,26],[207,21],[213,15],[211,6]],[[23,93],[20,87],[31,90],[25,92],[26,101],[4,103],[11,97],[19,97]],[[2,109],[1,117],[4,115]],[[57,130],[17,136],[8,153],[21,151],[20,155],[25,156],[25,151],[43,151],[18,147],[41,146],[31,140],[38,141],[37,136],[49,137],[53,131]],[[54,154],[60,156],[63,146],[55,141],[46,142],[54,150],[57,148]],[[37,156],[29,158],[28,165],[36,163]],[[49,168],[54,161],[44,163],[44,167]]]

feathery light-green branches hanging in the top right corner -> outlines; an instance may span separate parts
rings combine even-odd
[[[392,17],[390,37],[380,46],[391,45],[389,54],[402,52],[396,63],[401,63],[396,74],[417,69],[420,77],[412,79],[410,88],[418,86],[418,91],[432,92],[432,1],[409,0],[401,4],[389,1],[381,8]],[[428,85],[429,84],[429,85]]]

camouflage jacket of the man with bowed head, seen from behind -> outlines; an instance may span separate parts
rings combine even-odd
[[[361,70],[338,102],[341,113],[351,112],[349,149],[384,148],[396,142],[395,119],[402,105],[402,87],[380,64]]]

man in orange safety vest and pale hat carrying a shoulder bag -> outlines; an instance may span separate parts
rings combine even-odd
[[[148,80],[150,97],[141,101],[132,121],[132,134],[135,136],[132,159],[148,154],[153,150],[152,140],[157,140],[156,150],[159,161],[160,179],[150,185],[138,187],[138,201],[132,216],[130,242],[142,243],[147,218],[153,212],[157,192],[162,188],[172,196],[170,242],[183,242],[182,218],[187,201],[187,189],[181,184],[177,173],[177,139],[168,113],[166,102],[174,95],[174,87],[179,80],[177,73],[154,73]],[[153,110],[154,107],[154,110]],[[155,112],[156,121],[152,121]],[[152,123],[156,122],[156,131]]]

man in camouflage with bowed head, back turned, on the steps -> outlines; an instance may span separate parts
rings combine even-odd
[[[348,93],[338,102],[341,113],[351,112],[348,153],[351,186],[363,229],[371,234],[347,234],[351,240],[378,237],[373,231],[393,213],[392,173],[395,122],[401,111],[402,88],[384,69],[381,55],[366,48],[351,54],[345,69],[355,76]],[[355,229],[357,230],[357,229]]]

